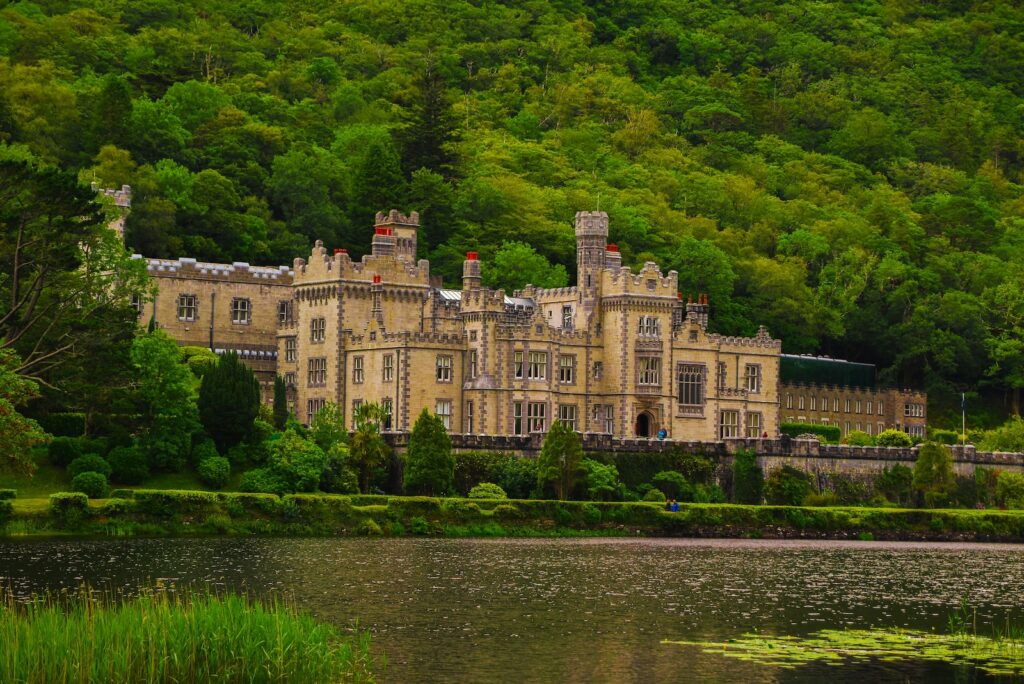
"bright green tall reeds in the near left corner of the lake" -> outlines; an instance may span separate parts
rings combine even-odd
[[[280,601],[83,591],[0,605],[4,682],[372,682],[369,637]]]

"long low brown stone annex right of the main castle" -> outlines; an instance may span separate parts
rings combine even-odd
[[[781,382],[779,398],[783,423],[836,425],[844,436],[896,429],[924,437],[928,425],[928,396],[914,390]]]

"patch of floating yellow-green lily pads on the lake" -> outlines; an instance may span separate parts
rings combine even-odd
[[[663,641],[705,653],[793,670],[812,662],[841,666],[852,660],[933,660],[974,666],[995,676],[1024,675],[1024,628],[1009,623],[990,636],[977,633],[976,621],[962,605],[943,634],[913,630],[822,630],[807,637],[744,634],[738,639]]]

